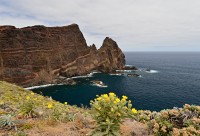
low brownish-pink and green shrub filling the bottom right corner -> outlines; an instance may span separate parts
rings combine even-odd
[[[186,104],[183,108],[154,112],[150,118],[149,128],[157,136],[200,135],[199,106]]]

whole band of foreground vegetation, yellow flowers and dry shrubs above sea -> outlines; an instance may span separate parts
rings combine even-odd
[[[134,126],[140,126],[139,130]],[[97,95],[91,100],[91,109],[85,109],[0,81],[0,135],[130,136],[137,131],[155,136],[200,136],[200,106],[136,110],[127,96],[109,93]]]

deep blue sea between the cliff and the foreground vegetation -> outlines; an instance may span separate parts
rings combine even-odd
[[[159,111],[182,107],[185,103],[200,105],[200,53],[195,52],[125,52],[126,64],[138,67],[142,77],[94,74],[75,79],[77,85],[34,89],[45,96],[71,105],[89,106],[96,95],[115,92],[126,95],[137,109]],[[146,72],[149,68],[152,72]],[[93,86],[101,80],[107,88]]]

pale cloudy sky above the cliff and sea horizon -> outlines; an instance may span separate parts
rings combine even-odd
[[[79,25],[88,45],[200,51],[200,0],[0,0],[0,25]]]

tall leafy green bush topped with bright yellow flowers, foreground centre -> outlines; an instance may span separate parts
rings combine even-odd
[[[120,135],[122,119],[137,113],[136,109],[131,110],[131,101],[127,99],[128,97],[122,96],[120,100],[114,93],[109,93],[97,95],[97,98],[91,101],[92,114],[97,122],[94,135]]]

